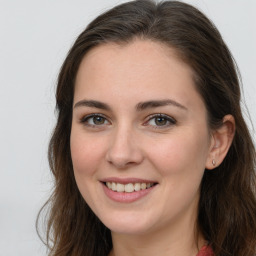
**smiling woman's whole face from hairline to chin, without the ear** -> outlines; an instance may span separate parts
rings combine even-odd
[[[74,174],[113,232],[193,227],[212,141],[192,76],[174,50],[146,40],[101,45],[84,57],[74,93]]]

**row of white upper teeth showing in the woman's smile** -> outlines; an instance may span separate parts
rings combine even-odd
[[[109,189],[117,192],[126,192],[131,193],[134,191],[140,191],[144,189],[148,189],[154,185],[154,183],[128,183],[128,184],[121,184],[116,182],[106,182],[106,185]]]

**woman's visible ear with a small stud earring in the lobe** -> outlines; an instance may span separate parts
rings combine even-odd
[[[222,163],[232,144],[234,135],[235,119],[232,115],[226,115],[222,120],[221,127],[212,132],[206,169],[212,170]]]

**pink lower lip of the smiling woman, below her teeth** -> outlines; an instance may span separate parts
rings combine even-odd
[[[111,189],[109,189],[105,184],[102,183],[103,186],[103,190],[105,192],[105,194],[112,199],[115,202],[119,202],[119,203],[132,203],[135,202],[141,198],[143,198],[144,196],[148,195],[150,192],[152,192],[152,190],[156,187],[156,185],[148,188],[148,189],[143,189],[140,191],[135,191],[135,192],[131,192],[131,193],[127,193],[127,192],[115,192]]]

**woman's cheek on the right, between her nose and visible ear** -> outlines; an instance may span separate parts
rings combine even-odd
[[[205,131],[185,131],[154,143],[148,154],[164,175],[192,174],[204,171],[208,152]]]

